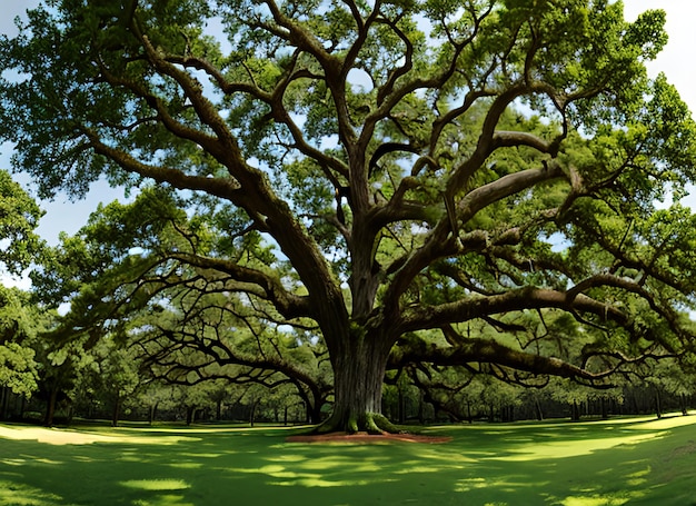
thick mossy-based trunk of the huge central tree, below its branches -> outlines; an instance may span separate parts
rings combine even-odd
[[[381,389],[389,355],[386,339],[354,336],[348,345],[331,357],[336,400],[331,417],[319,430],[396,431],[381,414]]]

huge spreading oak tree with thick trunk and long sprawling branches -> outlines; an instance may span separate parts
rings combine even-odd
[[[0,137],[43,195],[155,181],[206,231],[165,251],[117,227],[105,258],[138,266],[130,289],[93,304],[108,269],[88,264],[78,316],[109,320],[163,272],[222,278],[271,321],[314,321],[325,428],[376,431],[387,364],[596,384],[692,347],[694,218],[654,207],[695,167],[687,108],[644,68],[663,24],[608,1],[56,0],[0,42],[26,78],[0,83]],[[591,343],[566,359],[465,331],[544,308]]]

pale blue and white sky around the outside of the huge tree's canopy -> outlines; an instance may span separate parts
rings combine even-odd
[[[0,33],[13,36],[17,33],[13,19],[21,16],[27,9],[38,4],[38,0],[2,0],[0,7]],[[655,61],[648,63],[652,77],[664,72],[669,82],[676,86],[682,98],[688,103],[692,111],[696,111],[696,63],[693,54],[696,48],[696,1],[694,0],[624,0],[624,13],[628,21],[648,9],[664,9],[667,12],[667,33],[669,41],[664,51]],[[0,145],[0,168],[10,168],[11,146]],[[31,191],[31,181],[24,177],[17,180]],[[53,201],[41,201],[40,206],[46,210],[41,219],[38,232],[49,244],[57,244],[61,231],[74,234],[87,222],[89,214],[99,202],[110,202],[122,199],[123,191],[109,188],[106,182],[97,182],[87,198],[71,202],[64,195],[58,195]],[[696,209],[696,191],[684,201],[685,205]],[[19,286],[26,285],[26,280],[18,280]]]

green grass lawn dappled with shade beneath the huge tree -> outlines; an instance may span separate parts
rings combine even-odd
[[[446,444],[282,428],[0,425],[0,505],[696,505],[696,416],[446,426]]]

